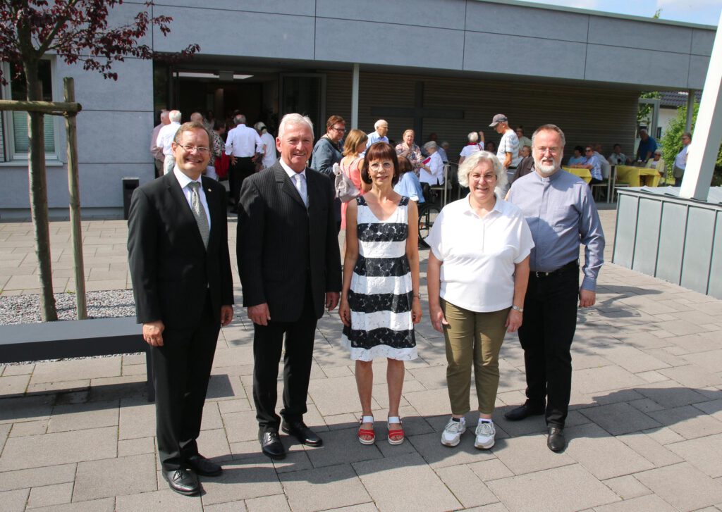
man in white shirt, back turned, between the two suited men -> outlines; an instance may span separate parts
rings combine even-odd
[[[233,123],[235,128],[228,131],[226,138],[226,154],[230,156],[228,180],[230,195],[233,198],[231,211],[235,213],[238,208],[240,186],[243,185],[245,178],[256,172],[256,154],[263,152],[261,151],[263,142],[256,130],[245,125],[245,115],[236,115]]]

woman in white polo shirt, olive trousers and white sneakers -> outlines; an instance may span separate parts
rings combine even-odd
[[[529,252],[534,247],[521,210],[495,195],[506,172],[488,151],[471,154],[458,169],[469,195],[443,208],[426,239],[429,312],[444,333],[451,420],[441,443],[458,445],[466,431],[471,366],[479,400],[474,446],[494,446],[492,422],[499,386],[499,350],[505,333],[522,322]]]

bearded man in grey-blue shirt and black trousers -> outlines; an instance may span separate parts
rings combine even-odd
[[[564,132],[556,125],[543,125],[531,141],[534,172],[513,182],[507,198],[521,208],[534,239],[529,286],[519,310],[523,314],[519,341],[524,350],[526,402],[506,412],[505,418],[518,421],[544,415],[547,447],[563,451],[577,307],[596,302],[596,282],[604,263],[604,231],[591,189],[561,167]],[[581,286],[580,243],[586,246]]]

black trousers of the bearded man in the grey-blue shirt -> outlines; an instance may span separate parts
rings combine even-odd
[[[570,348],[577,327],[579,267],[529,274],[519,340],[524,349],[526,399],[544,407],[548,425],[564,426],[572,387]]]

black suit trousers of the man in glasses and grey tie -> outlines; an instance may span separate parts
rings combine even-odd
[[[195,329],[166,328],[163,345],[151,348],[158,455],[166,471],[198,454],[196,439],[220,330],[208,293],[199,306],[204,313]]]

